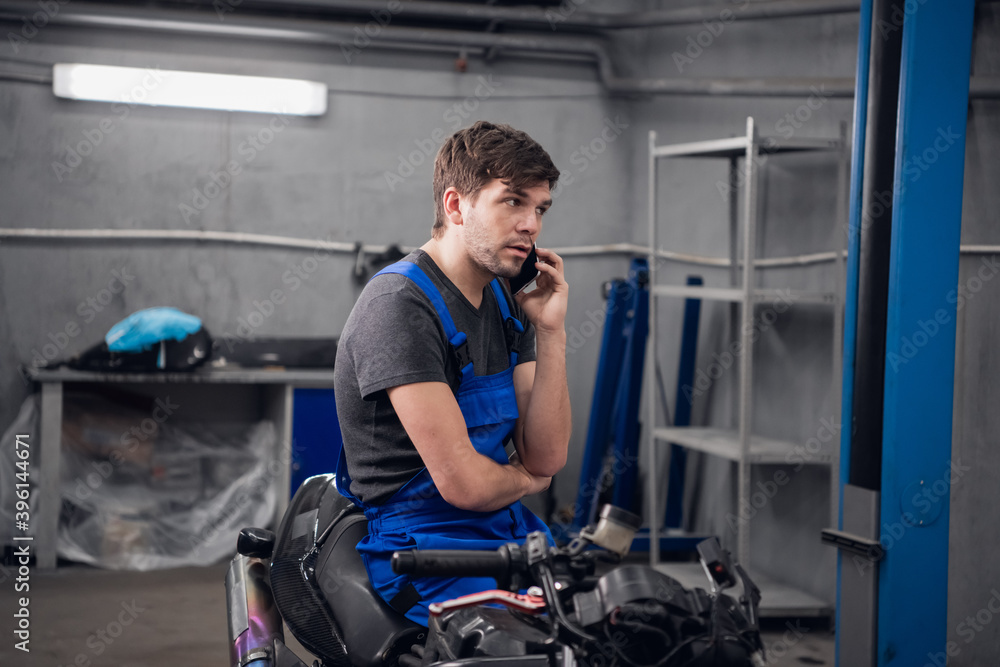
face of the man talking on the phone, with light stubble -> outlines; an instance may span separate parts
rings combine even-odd
[[[503,278],[513,278],[542,230],[542,215],[552,205],[549,184],[512,190],[494,179],[475,203],[463,206],[465,247],[470,259]]]

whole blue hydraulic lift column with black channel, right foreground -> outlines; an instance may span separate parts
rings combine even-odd
[[[973,0],[861,7],[842,402],[851,427],[841,439],[839,531],[824,536],[841,547],[843,667],[943,665],[949,650],[949,493],[934,484],[950,486],[956,304],[948,295],[958,284],[973,9]],[[876,79],[891,69],[884,46],[895,37],[898,97],[887,131],[872,114],[885,113]],[[891,221],[872,214],[875,135],[894,143]],[[879,244],[888,251],[881,278]],[[864,362],[873,347],[877,377]],[[881,392],[859,401],[872,386],[861,376]]]

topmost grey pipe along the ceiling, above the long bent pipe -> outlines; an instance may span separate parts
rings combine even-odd
[[[700,24],[704,21],[777,19],[857,12],[858,0],[767,0],[737,4],[710,4],[645,12],[598,13],[580,11],[570,0],[557,7],[496,7],[452,2],[401,2],[393,18],[491,22],[549,30],[620,30]],[[742,5],[742,6],[741,6]],[[368,0],[243,0],[240,9],[307,11],[316,14],[371,16],[386,11]]]

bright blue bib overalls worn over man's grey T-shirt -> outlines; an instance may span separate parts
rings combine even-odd
[[[476,376],[466,353],[466,335],[456,329],[441,293],[427,275],[416,264],[397,262],[379,271],[373,280],[384,273],[406,276],[430,299],[448,341],[458,355],[462,379],[456,399],[469,430],[469,439],[477,452],[507,465],[504,442],[513,432],[518,416],[514,394],[516,345],[510,350],[507,370],[495,375]],[[491,287],[505,326],[522,333],[524,327],[510,314],[499,282],[494,280]],[[528,533],[536,530],[549,534],[541,519],[520,501],[493,512],[459,509],[445,502],[426,468],[382,505],[360,501],[351,494],[350,484],[347,460],[341,450],[337,488],[364,509],[368,518],[368,536],[357,546],[368,570],[368,578],[391,607],[422,625],[427,625],[427,606],[430,603],[493,589],[496,582],[485,577],[411,578],[396,575],[390,566],[394,551],[414,548],[495,550],[508,542],[523,542]],[[549,541],[552,541],[551,535]]]

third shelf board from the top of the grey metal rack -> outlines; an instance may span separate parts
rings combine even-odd
[[[671,427],[653,431],[657,440],[693,449],[730,461],[740,460],[740,439],[736,431],[721,428]],[[798,465],[829,464],[833,460],[833,439],[822,443],[821,449],[812,454],[804,444],[786,440],[750,436],[750,463]]]

